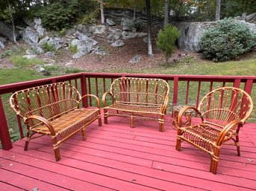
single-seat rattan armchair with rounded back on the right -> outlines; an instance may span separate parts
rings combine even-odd
[[[201,123],[183,126],[184,112],[193,109]],[[210,172],[216,174],[219,152],[223,143],[233,140],[240,156],[239,132],[252,114],[252,98],[239,88],[223,87],[210,91],[202,98],[198,108],[185,106],[178,114],[176,150],[186,141],[211,157]]]

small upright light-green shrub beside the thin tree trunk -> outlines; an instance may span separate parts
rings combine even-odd
[[[166,25],[163,30],[157,33],[157,47],[166,53],[166,63],[175,51],[175,41],[180,36],[178,28],[172,25]]]

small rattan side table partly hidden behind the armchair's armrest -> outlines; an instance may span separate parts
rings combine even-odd
[[[178,113],[183,109],[184,106],[173,106],[173,118],[172,118],[172,128],[177,130],[178,126]],[[182,120],[182,126],[190,126],[191,118],[193,114],[193,109],[188,109],[184,112],[184,119]]]

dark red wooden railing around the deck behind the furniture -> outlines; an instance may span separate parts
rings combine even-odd
[[[4,113],[3,99],[6,94],[31,88],[37,85],[46,85],[54,82],[69,82],[81,91],[81,94],[96,94],[100,99],[105,91],[110,91],[110,84],[118,77],[146,77],[160,78],[169,83],[169,109],[176,104],[189,104],[197,106],[200,99],[208,91],[220,86],[233,86],[242,88],[247,93],[256,97],[256,76],[192,76],[192,75],[169,75],[169,74],[104,74],[104,73],[79,73],[69,74],[60,77],[51,77],[40,80],[31,80],[28,82],[18,82],[7,85],[0,85],[0,139],[3,149],[11,149],[12,143],[10,133],[7,126],[7,120]],[[6,101],[6,100],[5,100]],[[83,100],[83,106],[92,106],[92,100]],[[7,106],[7,104],[5,104]],[[10,106],[9,106],[10,107]],[[167,112],[168,112],[167,111]],[[14,113],[13,113],[14,115]],[[22,130],[22,122],[17,118],[20,137],[24,137]],[[12,127],[13,128],[13,127]],[[17,130],[18,131],[18,130]]]

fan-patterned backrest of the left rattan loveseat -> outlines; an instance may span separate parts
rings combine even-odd
[[[23,120],[31,115],[51,120],[76,109],[80,98],[75,87],[58,82],[16,91],[10,97],[10,106]]]

